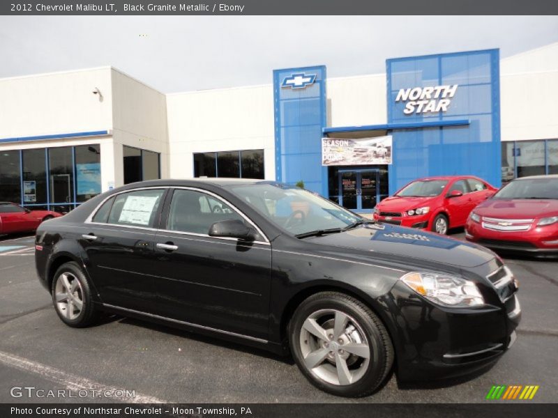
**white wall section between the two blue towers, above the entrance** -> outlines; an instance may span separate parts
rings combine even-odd
[[[386,75],[328,79],[328,126],[387,123]]]

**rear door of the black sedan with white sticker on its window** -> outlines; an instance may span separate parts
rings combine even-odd
[[[155,311],[156,219],[165,189],[118,194],[84,224],[80,245],[87,270],[104,303],[137,311]]]

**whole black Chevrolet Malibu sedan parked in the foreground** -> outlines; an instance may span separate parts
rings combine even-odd
[[[292,354],[326,392],[495,362],[520,320],[492,251],[372,222],[262,180],[153,180],[38,228],[36,267],[71,327],[100,311]]]

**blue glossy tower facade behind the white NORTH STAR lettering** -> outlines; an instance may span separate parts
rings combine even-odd
[[[498,164],[501,160],[498,49],[389,59],[386,72],[388,125],[469,121],[468,125],[392,130],[390,194],[415,178],[439,175],[472,174],[498,187],[502,174]],[[405,114],[411,99],[396,100],[400,91],[407,89],[455,84],[458,86],[453,97],[447,97],[450,102],[446,111]]]

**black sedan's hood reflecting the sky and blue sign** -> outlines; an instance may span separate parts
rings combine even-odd
[[[307,238],[315,244],[342,247],[354,250],[352,253],[370,255],[376,258],[409,261],[423,261],[421,265],[453,265],[456,268],[473,268],[490,261],[495,261],[492,251],[469,242],[405,228],[391,224],[370,224],[342,233],[332,233],[315,238]],[[357,254],[354,254],[355,256]],[[360,254],[359,254],[360,255]]]

